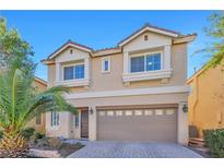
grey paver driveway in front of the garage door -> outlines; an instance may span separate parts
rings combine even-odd
[[[70,155],[80,158],[192,158],[202,157],[178,144],[94,141]]]

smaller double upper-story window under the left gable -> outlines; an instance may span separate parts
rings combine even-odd
[[[63,80],[84,79],[84,64],[74,64],[63,68]]]

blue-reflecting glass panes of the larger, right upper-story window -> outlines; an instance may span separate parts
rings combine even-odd
[[[161,70],[161,52],[145,53],[130,58],[130,72]]]

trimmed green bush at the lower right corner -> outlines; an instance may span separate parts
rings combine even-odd
[[[204,130],[203,137],[213,157],[224,157],[224,129]]]

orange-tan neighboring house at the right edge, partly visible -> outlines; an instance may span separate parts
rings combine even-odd
[[[224,68],[202,68],[187,82],[192,92],[188,98],[189,125],[202,131],[224,128]]]

